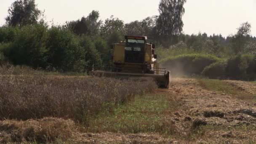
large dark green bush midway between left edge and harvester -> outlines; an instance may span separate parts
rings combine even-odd
[[[46,43],[48,64],[65,72],[82,72],[86,66],[85,49],[80,40],[61,27],[49,29]]]

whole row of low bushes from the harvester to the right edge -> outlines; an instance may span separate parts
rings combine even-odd
[[[256,80],[256,56],[244,54],[217,58],[207,54],[181,54],[160,61],[173,75],[203,75],[209,78]]]

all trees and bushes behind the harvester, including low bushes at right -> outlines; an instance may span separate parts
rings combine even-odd
[[[154,37],[161,64],[174,74],[181,70],[210,78],[256,79],[256,37],[251,35],[250,23],[237,26],[237,33],[227,37],[203,32],[187,35],[182,21],[186,0],[167,1],[160,1],[159,15],[130,23],[115,16],[102,21],[100,12],[92,11],[56,25],[45,20],[35,0],[16,0],[0,26],[0,65],[88,72],[93,64],[111,64],[111,45],[124,35],[145,35]]]

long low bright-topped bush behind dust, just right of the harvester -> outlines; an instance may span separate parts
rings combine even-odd
[[[163,67],[167,67],[174,74],[200,75],[203,69],[221,59],[204,54],[184,54],[179,56],[170,56],[160,61]]]

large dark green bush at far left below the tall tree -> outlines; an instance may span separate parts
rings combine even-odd
[[[13,64],[42,67],[46,63],[46,38],[47,29],[44,26],[27,25],[19,29],[13,37],[13,42],[6,44],[3,51]]]

